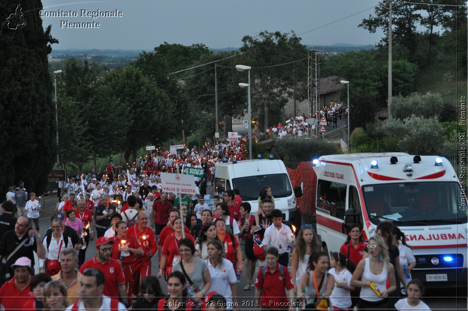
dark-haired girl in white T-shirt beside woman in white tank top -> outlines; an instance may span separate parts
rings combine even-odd
[[[346,260],[344,253],[333,252],[330,267],[328,273],[335,278],[335,287],[330,295],[330,304],[334,310],[348,311],[351,307],[351,291],[354,290],[354,286],[350,286],[351,271],[354,271],[354,264],[351,260]]]

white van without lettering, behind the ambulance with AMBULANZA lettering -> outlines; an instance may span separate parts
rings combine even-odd
[[[262,186],[271,188],[275,208],[283,212],[283,221],[300,227],[300,210],[296,196],[302,196],[300,186],[292,189],[285,163],[281,160],[245,160],[237,163],[219,163],[215,173],[215,195],[226,189],[239,189],[242,201],[249,202],[251,214],[258,209]]]

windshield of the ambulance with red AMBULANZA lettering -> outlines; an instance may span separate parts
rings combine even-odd
[[[467,201],[456,182],[410,182],[362,187],[367,215],[374,224],[441,225],[467,222]]]

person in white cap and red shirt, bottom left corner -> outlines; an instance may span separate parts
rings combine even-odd
[[[11,266],[15,276],[7,281],[0,289],[0,305],[5,311],[15,311],[18,305],[23,305],[29,300],[34,301],[34,294],[29,286],[29,280],[33,269],[31,268],[31,259],[20,257]],[[20,302],[18,304],[18,299]]]

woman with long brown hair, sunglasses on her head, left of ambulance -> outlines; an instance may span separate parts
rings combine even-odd
[[[300,278],[307,271],[307,264],[314,252],[323,252],[323,247],[317,240],[317,235],[311,223],[300,227],[299,235],[294,243],[291,258],[291,279],[294,290],[298,290]]]

